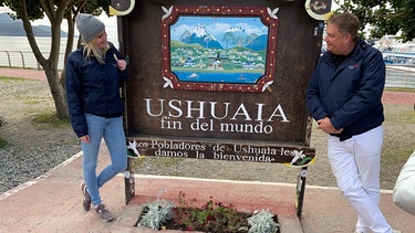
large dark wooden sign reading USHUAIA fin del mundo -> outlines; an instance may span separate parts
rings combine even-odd
[[[129,57],[129,152],[299,167],[302,199],[315,156],[305,89],[331,2],[127,2],[112,10]]]

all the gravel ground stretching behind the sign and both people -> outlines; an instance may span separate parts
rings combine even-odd
[[[0,149],[0,193],[34,179],[81,150],[79,139],[70,126],[52,127],[33,123],[39,114],[51,113],[54,104],[42,71],[0,68],[0,76],[27,77],[18,81],[0,80],[0,136],[9,145]],[[395,117],[413,110],[415,93],[385,92],[386,112]],[[415,124],[385,124],[388,138],[415,145]],[[325,158],[325,135],[313,130],[311,146],[318,159],[309,168],[308,184],[335,187]],[[390,140],[390,139],[387,139]],[[393,142],[395,144],[395,142]],[[398,145],[398,144],[397,144]],[[400,148],[397,148],[400,149]],[[409,155],[409,153],[408,153]],[[385,166],[383,189],[392,189],[405,158]],[[298,169],[282,165],[229,162],[194,159],[145,158],[138,173],[197,177],[209,179],[248,180],[263,182],[297,182]]]

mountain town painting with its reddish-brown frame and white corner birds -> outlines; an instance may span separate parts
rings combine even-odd
[[[162,17],[164,88],[270,91],[274,82],[278,8],[172,6],[162,9],[165,12]],[[178,31],[190,22],[198,22],[193,25],[193,33],[180,31],[180,40],[177,39]],[[231,27],[220,35],[206,31],[220,23]],[[248,34],[241,27],[243,23],[256,23],[262,34]],[[246,36],[240,34],[242,32]]]

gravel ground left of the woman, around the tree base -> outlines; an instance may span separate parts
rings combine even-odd
[[[1,75],[1,74],[0,74]],[[0,80],[0,193],[37,178],[80,151],[69,127],[33,124],[54,109],[46,82]]]

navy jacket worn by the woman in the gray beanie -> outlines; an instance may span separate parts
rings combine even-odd
[[[68,56],[66,96],[72,128],[77,137],[87,135],[85,114],[112,118],[124,113],[120,88],[127,72],[118,70],[113,54],[122,56],[112,43],[108,44],[103,65],[93,56],[85,60],[83,47]]]

